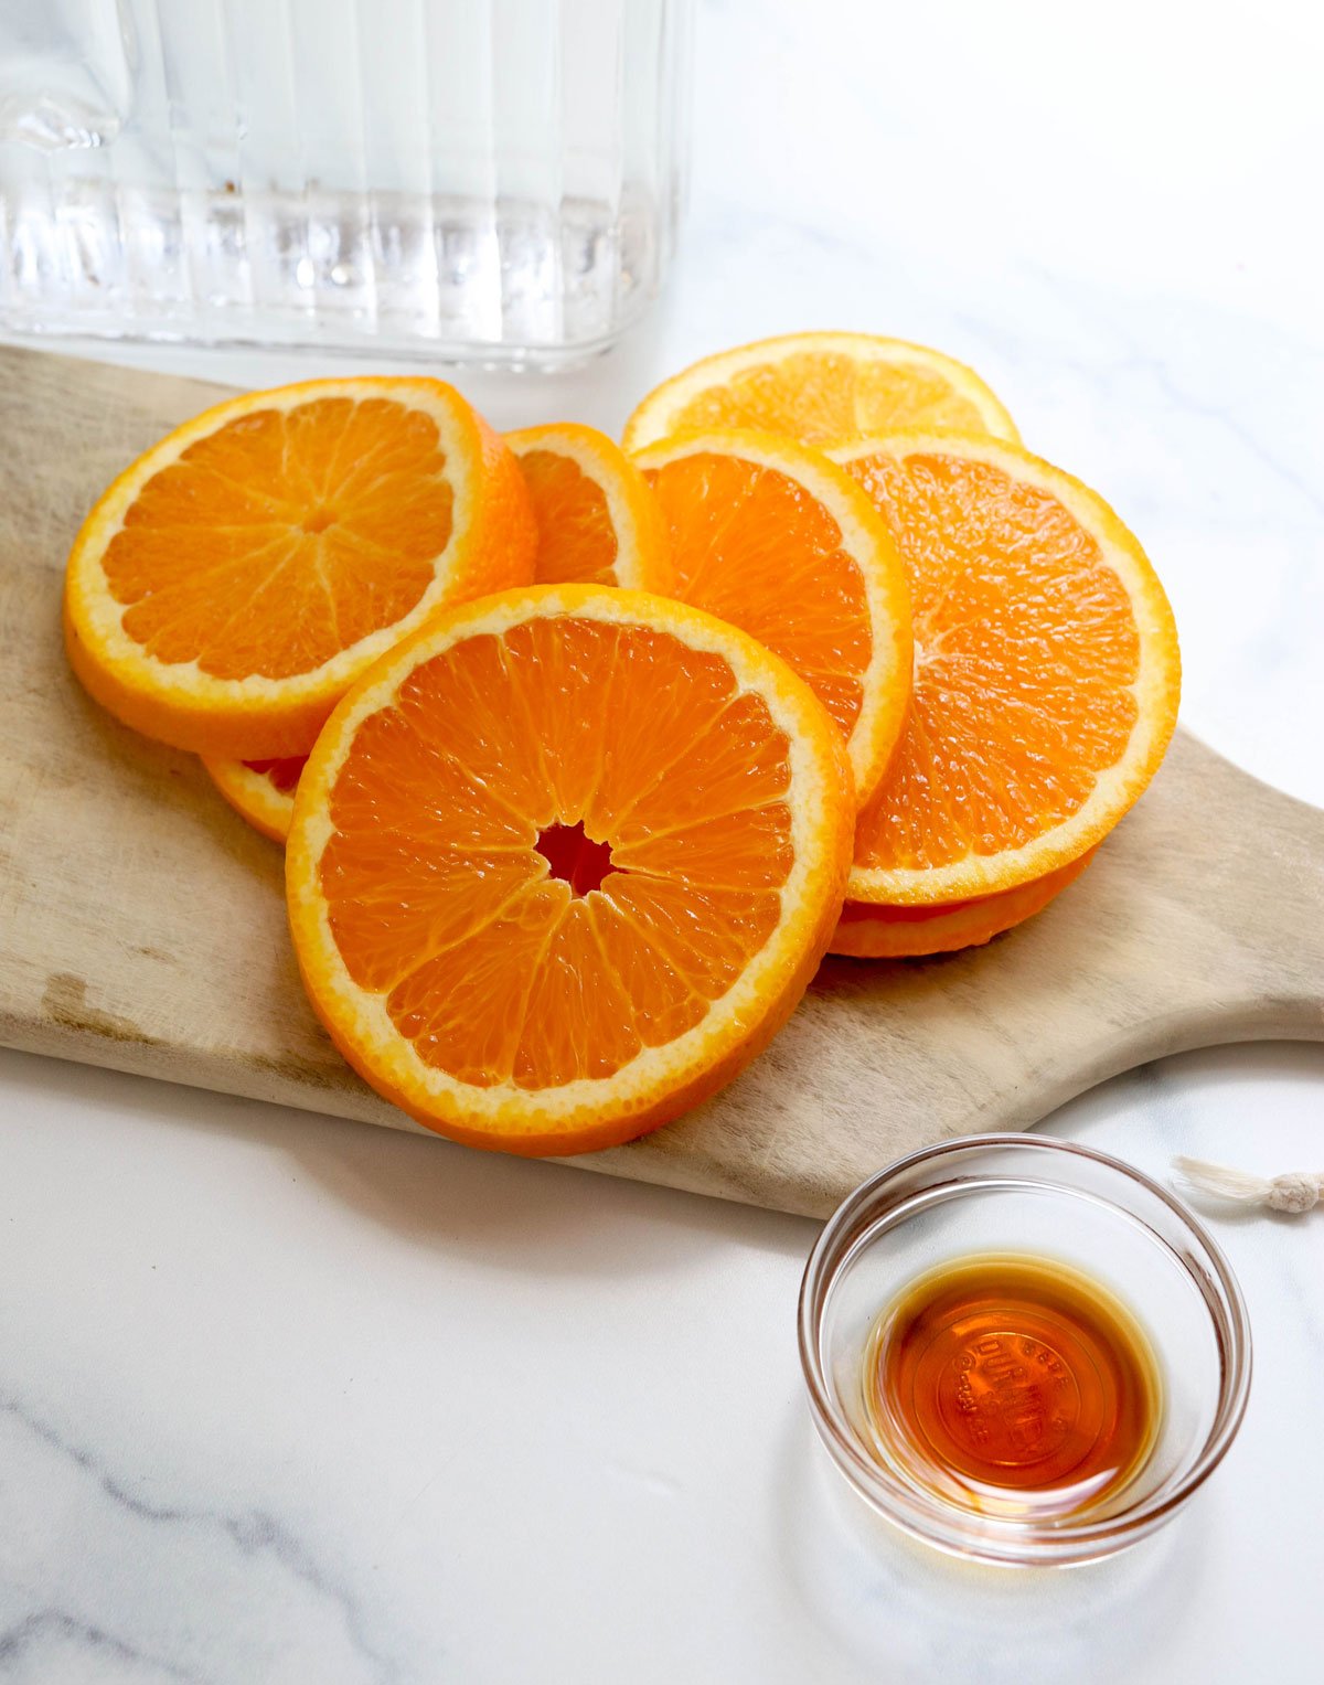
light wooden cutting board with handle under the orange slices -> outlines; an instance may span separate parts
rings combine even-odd
[[[61,570],[83,516],[221,396],[0,349],[0,1043],[416,1129],[305,1004],[280,849],[64,664]],[[829,960],[724,1094],[576,1163],[822,1217],[925,1142],[1024,1129],[1144,1060],[1265,1036],[1324,1040],[1324,812],[1177,733],[1038,918],[948,959]]]

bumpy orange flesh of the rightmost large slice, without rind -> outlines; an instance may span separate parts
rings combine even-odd
[[[925,453],[842,463],[901,551],[915,686],[856,863],[926,869],[1075,814],[1137,719],[1140,640],[1098,543],[1049,492]]]

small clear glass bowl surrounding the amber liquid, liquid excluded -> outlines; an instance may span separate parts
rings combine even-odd
[[[916,1276],[980,1252],[1061,1259],[1140,1319],[1162,1420],[1112,1506],[985,1515],[911,1484],[871,1452],[862,1358],[874,1318]],[[1218,1466],[1247,1409],[1250,1326],[1213,1237],[1157,1183],[1044,1136],[967,1136],[898,1159],[837,1208],[800,1287],[800,1361],[819,1436],[889,1522],[955,1555],[1065,1565],[1145,1538]]]

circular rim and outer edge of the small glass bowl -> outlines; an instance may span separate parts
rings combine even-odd
[[[1054,1525],[1009,1516],[977,1515],[974,1511],[965,1516],[953,1505],[926,1498],[884,1469],[883,1464],[864,1451],[859,1436],[834,1402],[832,1388],[824,1373],[819,1335],[836,1277],[842,1265],[856,1257],[861,1245],[861,1235],[856,1235],[852,1228],[854,1222],[878,1200],[878,1195],[889,1181],[894,1181],[916,1164],[979,1149],[1041,1153],[1049,1158],[1061,1154],[1103,1166],[1107,1171],[1118,1174],[1124,1183],[1137,1185],[1167,1206],[1179,1227],[1198,1242],[1204,1252],[1204,1260],[1211,1267],[1218,1297],[1211,1296],[1204,1282],[1194,1276],[1191,1279],[1199,1289],[1204,1309],[1215,1324],[1215,1338],[1223,1353],[1218,1405],[1204,1442],[1199,1446],[1191,1466],[1172,1484],[1161,1486],[1157,1493],[1142,1500],[1134,1508],[1097,1522],[1066,1520]],[[1066,1186],[1054,1190],[1051,1181],[1044,1183],[1044,1186],[1061,1195],[1076,1193],[1076,1190]],[[965,1191],[975,1191],[975,1188]],[[955,1196],[960,1198],[960,1191]],[[1103,1205],[1110,1205],[1134,1222],[1142,1222],[1120,1198],[1100,1196],[1097,1191],[1090,1196],[1102,1200]],[[1177,1262],[1191,1274],[1184,1260],[1177,1259]],[[809,1388],[814,1426],[837,1468],[841,1468],[856,1491],[888,1520],[916,1538],[945,1550],[992,1562],[1088,1560],[1090,1557],[1110,1555],[1113,1550],[1152,1532],[1171,1518],[1223,1461],[1241,1426],[1250,1395],[1252,1338],[1245,1299],[1236,1276],[1223,1255],[1223,1249],[1204,1223],[1181,1200],[1150,1176],[1145,1176],[1144,1171],[1135,1169],[1134,1164],[1127,1164],[1110,1153],[1100,1153],[1097,1147],[1085,1147],[1075,1141],[1058,1141],[1053,1136],[1006,1132],[957,1136],[950,1141],[940,1141],[935,1146],[920,1147],[874,1171],[873,1176],[846,1195],[827,1223],[824,1223],[800,1281],[797,1326],[800,1368]]]

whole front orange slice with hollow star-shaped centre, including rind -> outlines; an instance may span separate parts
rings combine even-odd
[[[760,644],[643,591],[544,585],[392,650],[295,799],[313,1008],[411,1117],[579,1153],[713,1094],[841,912],[851,775]]]

